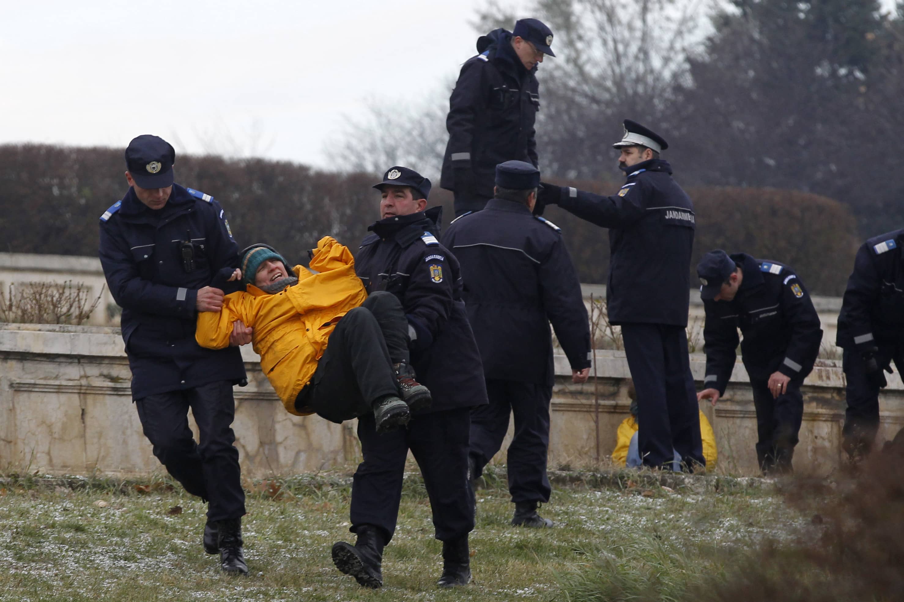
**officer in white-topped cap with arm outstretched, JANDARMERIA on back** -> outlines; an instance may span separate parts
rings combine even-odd
[[[645,466],[703,465],[697,392],[687,351],[693,204],[659,158],[668,144],[625,120],[619,169],[627,181],[611,197],[543,184],[540,203],[558,204],[609,228],[606,299],[609,322],[621,326],[637,390],[637,440]]]

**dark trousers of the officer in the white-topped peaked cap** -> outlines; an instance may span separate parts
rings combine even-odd
[[[644,465],[671,469],[677,451],[687,468],[705,466],[684,327],[629,323],[621,329],[637,392],[637,445]]]

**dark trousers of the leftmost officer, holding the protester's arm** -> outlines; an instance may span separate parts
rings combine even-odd
[[[210,502],[207,518],[223,521],[245,514],[239,450],[235,449],[232,384],[217,381],[193,389],[148,395],[136,400],[145,436],[154,455],[185,491]],[[195,443],[188,409],[201,433]]]

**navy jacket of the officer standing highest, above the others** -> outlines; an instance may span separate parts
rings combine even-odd
[[[524,69],[510,32],[497,29],[482,36],[477,51],[462,66],[449,98],[449,141],[439,185],[455,190],[454,170],[466,168],[474,172],[476,192],[491,198],[497,164],[517,160],[537,165],[534,121],[540,88],[537,68]]]

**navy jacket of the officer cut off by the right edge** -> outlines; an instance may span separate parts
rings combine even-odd
[[[861,245],[844,291],[836,345],[865,351],[904,342],[904,230]]]

